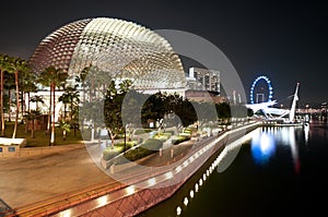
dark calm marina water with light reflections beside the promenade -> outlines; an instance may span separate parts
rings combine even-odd
[[[169,200],[140,216],[327,215],[327,122],[263,126],[245,137],[225,170],[214,169],[199,185],[204,166]]]

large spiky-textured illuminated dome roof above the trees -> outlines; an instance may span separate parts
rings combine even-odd
[[[35,73],[48,67],[69,76],[105,72],[112,79],[129,79],[134,88],[184,88],[185,72],[168,41],[139,24],[109,17],[69,23],[44,38],[30,65]]]

